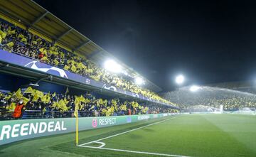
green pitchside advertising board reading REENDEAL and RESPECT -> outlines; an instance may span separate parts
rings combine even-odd
[[[146,119],[155,119],[172,114],[142,114],[117,117],[81,117],[79,130],[97,129],[105,126],[127,124]],[[24,119],[0,121],[0,145],[23,139],[63,134],[75,131],[75,118],[64,119]]]

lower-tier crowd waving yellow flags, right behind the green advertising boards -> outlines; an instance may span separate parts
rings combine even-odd
[[[78,107],[81,117],[174,112],[168,107],[148,106],[135,101],[97,99],[91,94],[75,96],[56,94],[55,92],[43,93],[28,87],[23,92],[21,89],[16,92],[0,92],[0,117],[2,119],[10,118],[10,113],[14,112],[18,104],[23,104],[23,111],[26,111],[26,114],[36,114],[27,115],[31,118],[35,118],[35,116],[43,118],[73,117],[75,107]]]

